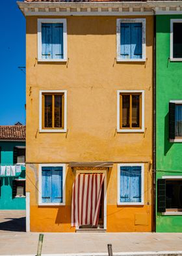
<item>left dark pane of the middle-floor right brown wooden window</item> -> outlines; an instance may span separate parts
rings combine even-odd
[[[130,95],[122,95],[122,127],[129,127]]]

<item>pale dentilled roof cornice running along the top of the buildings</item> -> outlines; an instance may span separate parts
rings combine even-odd
[[[182,14],[182,1],[17,2],[25,16],[125,16]]]

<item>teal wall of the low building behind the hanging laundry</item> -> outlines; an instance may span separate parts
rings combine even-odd
[[[13,149],[15,146],[25,146],[25,142],[0,142],[1,147],[1,165],[13,164]],[[1,197],[0,197],[0,210],[25,210],[25,197],[13,198],[12,197],[12,181],[13,177],[0,177],[1,178]],[[21,174],[16,177],[25,179],[25,167],[21,167]]]

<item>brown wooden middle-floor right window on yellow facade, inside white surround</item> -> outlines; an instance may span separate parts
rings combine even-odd
[[[120,93],[120,129],[141,129],[141,108],[141,93]]]

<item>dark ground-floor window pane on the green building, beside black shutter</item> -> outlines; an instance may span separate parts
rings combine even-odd
[[[166,180],[166,208],[182,209],[182,180]]]

